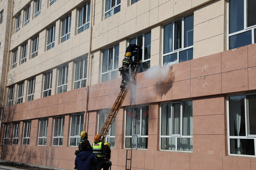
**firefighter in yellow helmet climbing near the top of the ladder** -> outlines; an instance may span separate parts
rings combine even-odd
[[[122,82],[120,85],[121,90],[124,90],[126,88],[127,83],[130,80],[129,66],[131,65],[131,75],[133,75],[134,74],[133,65],[137,65],[137,64],[141,64],[141,62],[133,62],[131,59],[131,52],[127,52],[125,54],[122,67],[118,69],[118,71],[120,71],[120,74],[122,75]]]

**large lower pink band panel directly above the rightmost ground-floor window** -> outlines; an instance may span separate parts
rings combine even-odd
[[[248,90],[248,69],[222,73],[222,93]]]

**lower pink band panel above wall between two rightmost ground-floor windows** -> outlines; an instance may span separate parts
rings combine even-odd
[[[191,97],[221,94],[221,74],[190,79]]]

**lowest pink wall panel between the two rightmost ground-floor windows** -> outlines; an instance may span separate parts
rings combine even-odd
[[[225,135],[193,135],[193,153],[225,155]]]

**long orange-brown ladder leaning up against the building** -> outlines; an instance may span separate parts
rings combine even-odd
[[[103,124],[103,126],[101,128],[101,131],[99,133],[99,135],[101,136],[101,142],[104,141],[106,135],[108,134],[109,129],[110,129],[112,123],[114,122],[114,120],[116,118],[116,115],[117,115],[117,113],[118,113],[118,111],[119,111],[119,109],[120,109],[120,107],[121,107],[121,105],[122,105],[122,103],[123,103],[123,101],[124,101],[128,91],[129,91],[129,89],[131,87],[131,84],[132,84],[134,78],[136,77],[136,74],[137,74],[137,71],[138,71],[139,67],[140,67],[140,65],[135,67],[137,69],[134,72],[134,74],[133,74],[132,78],[130,79],[129,83],[127,84],[126,89],[125,90],[121,90],[119,95],[118,95],[118,97],[116,98],[116,101],[115,101],[113,107],[111,108],[111,110],[109,112],[109,115],[106,118],[106,120],[105,120],[105,122],[104,122],[104,124]]]

